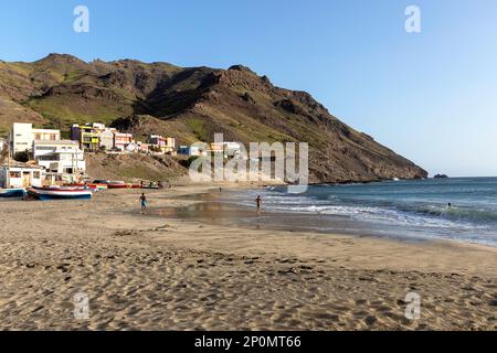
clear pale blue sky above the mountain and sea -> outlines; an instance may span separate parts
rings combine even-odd
[[[89,9],[89,33],[73,10]],[[421,9],[421,33],[404,10]],[[431,173],[497,175],[496,0],[2,0],[0,58],[244,64]]]

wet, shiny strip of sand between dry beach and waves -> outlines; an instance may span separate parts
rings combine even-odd
[[[405,242],[406,244],[425,242],[448,242],[456,244],[482,245],[497,248],[495,242],[470,240],[467,238],[447,238],[443,234],[417,232],[392,232],[392,224],[382,226],[372,222],[364,222],[351,218],[347,214],[321,214],[319,212],[305,211],[284,211],[282,208],[267,208],[263,205],[263,212],[256,214],[255,204],[252,205],[243,200],[251,201],[248,194],[240,194],[240,191],[254,191],[254,196],[261,192],[267,191],[256,188],[225,188],[219,192],[216,188],[207,190],[197,195],[188,197],[197,201],[188,207],[162,211],[163,216],[204,222],[213,225],[223,225],[226,227],[244,227],[247,229],[257,229],[260,227],[271,231],[283,231],[292,233],[317,233],[317,234],[340,234],[356,237],[370,237],[378,239],[392,239]],[[236,194],[239,193],[239,194]],[[274,205],[273,205],[274,206]],[[402,227],[402,226],[401,226]],[[427,229],[430,231],[430,229]]]

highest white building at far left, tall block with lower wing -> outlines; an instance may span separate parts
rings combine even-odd
[[[61,139],[60,130],[33,129],[32,124],[14,122],[9,135],[12,157],[31,152],[34,141],[56,141]]]

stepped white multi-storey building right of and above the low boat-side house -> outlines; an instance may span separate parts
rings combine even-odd
[[[47,172],[78,174],[86,171],[84,152],[77,141],[34,141],[33,158]]]

